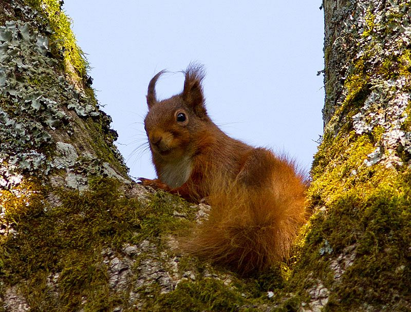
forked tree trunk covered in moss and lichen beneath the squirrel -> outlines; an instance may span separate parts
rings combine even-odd
[[[0,310],[411,310],[411,6],[323,8],[312,217],[244,278],[175,248],[207,207],[128,178],[60,2],[0,2]]]

